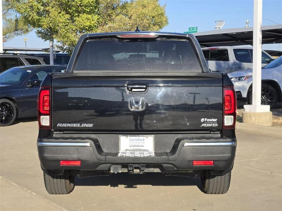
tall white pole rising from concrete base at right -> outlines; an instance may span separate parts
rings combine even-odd
[[[262,0],[254,0],[252,105],[261,105],[262,78]]]

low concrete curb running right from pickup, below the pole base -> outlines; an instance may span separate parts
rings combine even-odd
[[[282,128],[279,127],[260,126],[236,122],[236,130],[245,130],[249,133],[256,133],[261,134],[263,136],[269,135],[282,138]]]

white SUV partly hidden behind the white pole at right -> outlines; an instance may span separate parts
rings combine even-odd
[[[248,104],[252,104],[252,74],[252,70],[228,74],[234,82],[237,99]],[[270,108],[273,108],[277,102],[281,102],[281,88],[282,57],[279,57],[262,68],[262,105],[270,105]]]

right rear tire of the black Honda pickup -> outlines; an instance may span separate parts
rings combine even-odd
[[[230,186],[231,171],[225,175],[212,175],[206,171],[201,176],[202,191],[206,194],[225,194]]]

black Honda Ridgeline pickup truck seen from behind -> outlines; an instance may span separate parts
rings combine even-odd
[[[46,190],[68,194],[75,177],[162,172],[226,193],[235,120],[233,83],[209,71],[195,36],[85,34],[66,72],[48,74],[39,91]]]

